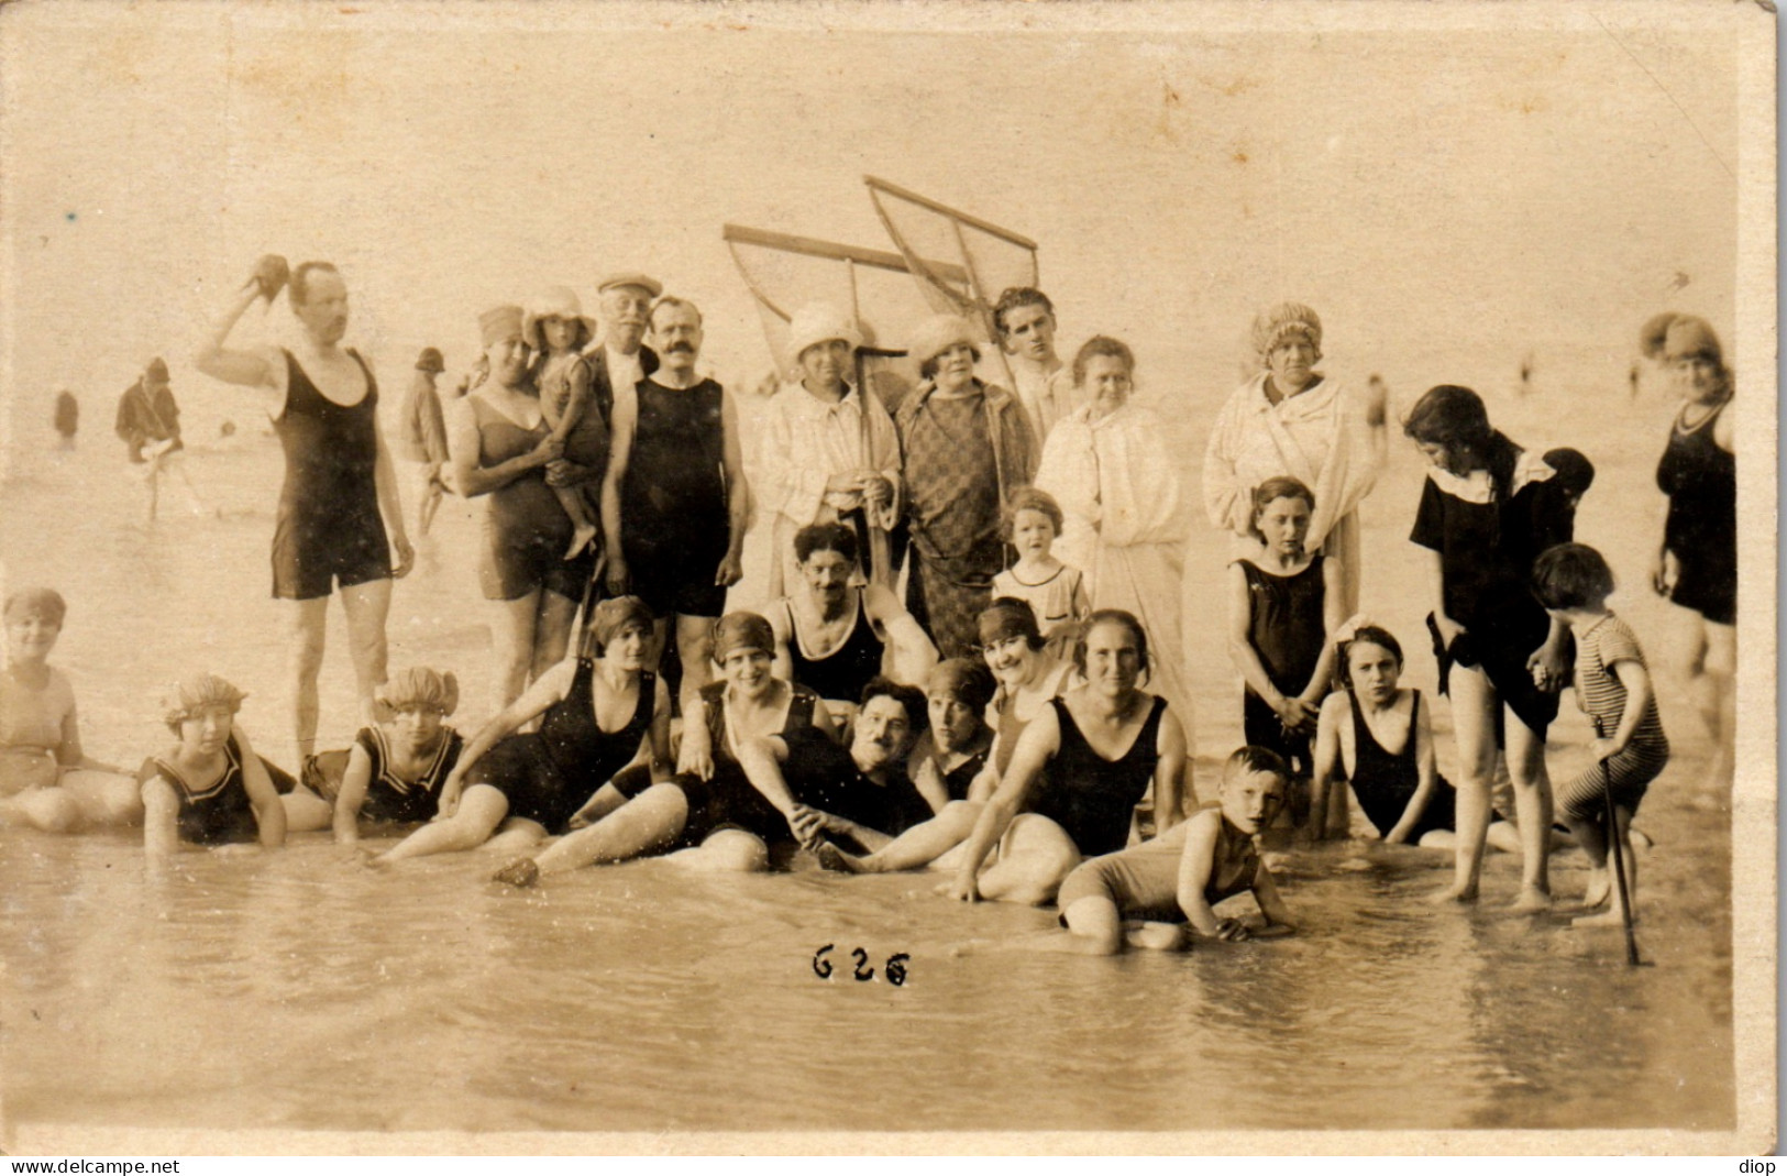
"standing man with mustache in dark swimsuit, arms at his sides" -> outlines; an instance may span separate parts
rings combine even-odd
[[[743,575],[745,463],[731,397],[695,372],[701,311],[667,297],[649,315],[663,366],[615,400],[602,533],[608,590],[633,593],[658,618],[658,649],[675,617],[683,710],[711,677],[713,622]]]

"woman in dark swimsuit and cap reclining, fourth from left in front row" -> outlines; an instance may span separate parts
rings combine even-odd
[[[572,817],[622,769],[670,774],[670,693],[649,672],[652,615],[638,597],[602,601],[590,620],[593,658],[566,658],[484,724],[441,785],[440,815],[375,861],[490,844],[527,849]],[[543,715],[540,731],[516,735]],[[491,836],[495,835],[495,836]]]

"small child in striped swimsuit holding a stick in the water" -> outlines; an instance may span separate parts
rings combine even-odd
[[[1657,692],[1644,651],[1626,622],[1607,608],[1612,593],[1614,572],[1601,552],[1583,543],[1560,543],[1533,563],[1533,595],[1576,634],[1576,704],[1596,729],[1590,743],[1594,767],[1558,792],[1558,815],[1594,867],[1583,906],[1592,910],[1612,903],[1605,913],[1576,920],[1587,926],[1619,926],[1624,917],[1619,886],[1607,874],[1612,836],[1619,838],[1626,863],[1626,894],[1637,904],[1632,815],[1669,763],[1669,738],[1657,715]],[[1605,827],[1608,792],[1614,795],[1617,829]]]

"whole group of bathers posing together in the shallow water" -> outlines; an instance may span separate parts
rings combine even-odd
[[[282,290],[298,347],[229,349],[250,302]],[[1033,450],[1044,468],[1058,452],[1038,431],[1101,443],[1128,395],[1122,343],[1097,336],[1069,366],[1053,354],[1053,304],[1008,291],[995,323],[1019,388],[974,377],[979,338],[940,320],[915,345],[919,384],[888,413],[860,386],[856,327],[826,307],[797,315],[777,400],[790,399],[784,425],[802,424],[779,440],[790,452],[768,495],[786,575],[767,608],[726,611],[751,490],[729,393],[695,370],[701,311],[640,273],[599,291],[600,320],[565,288],[493,307],[466,393],[431,406],[443,365],[429,349],[404,406],[424,488],[488,497],[481,586],[509,624],[502,706],[479,731],[447,724],[452,674],[386,672],[391,581],[415,552],[377,382],[340,345],[345,282],[327,263],[264,257],[197,363],[266,393],[286,454],[272,570],[273,593],[295,601],[300,770],[256,754],[234,722],[243,693],[209,674],[170,692],[173,743],[134,776],[86,760],[71,688],[46,663],[64,604],[29,590],[5,601],[0,815],[70,829],[141,813],[154,854],[407,827],[375,861],[495,847],[508,858],[495,878],[520,886],[642,854],[752,870],[806,853],[845,874],[942,870],[940,890],[963,901],[1056,901],[1072,931],[1058,945],[1110,953],[1179,945],[1187,924],[1215,938],[1288,929],[1256,836],[1285,810],[1312,836],[1344,831],[1347,790],[1385,840],[1455,851],[1442,897],[1474,899],[1496,844],[1523,853],[1517,904],[1549,906],[1544,731],[1574,685],[1599,738],[1596,765],[1560,790],[1560,817],[1594,867],[1585,908],[1612,901],[1599,919],[1621,915],[1630,886],[1608,885],[1607,851],[1669,743],[1639,642],[1605,606],[1612,572],[1573,542],[1592,479],[1581,454],[1523,450],[1458,386],[1430,390],[1405,422],[1431,463],[1410,538],[1435,567],[1430,627],[1460,760],[1449,785],[1431,704],[1399,685],[1401,643],[1356,609],[1355,511],[1383,459],[1383,390],[1360,416],[1313,370],[1313,311],[1263,313],[1262,377],[1224,409],[1206,470],[1212,518],[1237,529],[1229,649],[1246,745],[1224,760],[1219,802],[1201,808],[1190,713],[1151,688],[1183,674],[1183,649],[1113,606],[1135,588],[1119,572],[1145,563],[1065,563],[1054,543],[1072,515],[1028,481]],[[1705,618],[1705,649],[1735,620],[1730,374],[1698,318],[1653,322],[1646,349],[1685,400],[1658,470],[1671,511],[1655,583]],[[902,456],[945,454],[949,438],[960,454],[904,477]],[[1272,468],[1287,438],[1299,459]],[[985,520],[945,520],[952,508],[926,499],[942,488],[972,502],[990,491],[972,509],[994,513],[997,567],[969,554],[986,547]],[[901,533],[915,499],[931,506]],[[1115,495],[1106,506],[1095,529],[1119,531]],[[365,726],[348,749],[316,754],[338,590]],[[1512,822],[1490,802],[1499,758]],[[1242,892],[1263,922],[1215,913]]]

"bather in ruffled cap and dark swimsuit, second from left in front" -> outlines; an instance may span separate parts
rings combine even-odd
[[[143,851],[161,858],[180,845],[286,844],[279,788],[293,786],[248,745],[236,726],[241,690],[216,674],[179,681],[163,701],[175,743],[143,761]]]

